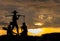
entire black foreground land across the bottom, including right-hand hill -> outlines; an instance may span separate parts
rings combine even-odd
[[[60,41],[60,33],[45,34],[41,37],[33,36],[0,36],[0,41]]]

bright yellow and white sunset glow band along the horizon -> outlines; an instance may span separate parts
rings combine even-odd
[[[13,30],[16,33],[16,30]],[[0,36],[6,35],[6,30],[0,30]],[[21,33],[21,29],[19,29],[19,32]],[[43,28],[35,28],[35,29],[28,29],[27,34],[29,36],[42,36],[43,34],[47,33],[54,33],[58,32],[60,33],[60,27],[43,27]]]

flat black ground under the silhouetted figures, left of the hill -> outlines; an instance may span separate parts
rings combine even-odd
[[[0,41],[36,41],[39,37],[33,36],[0,36]]]

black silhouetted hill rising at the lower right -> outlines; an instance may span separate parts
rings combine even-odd
[[[44,34],[37,41],[60,41],[60,33]]]

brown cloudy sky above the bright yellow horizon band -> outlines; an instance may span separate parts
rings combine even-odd
[[[60,27],[60,0],[0,0],[0,26],[7,26],[12,12],[25,15],[28,29]],[[18,20],[19,26],[23,22]],[[2,27],[0,28],[2,29]]]

